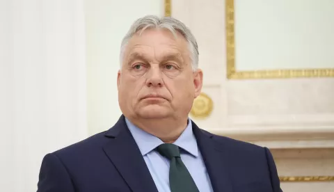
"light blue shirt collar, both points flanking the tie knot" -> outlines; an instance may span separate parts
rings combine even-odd
[[[127,123],[127,127],[129,127],[129,131],[134,137],[134,140],[136,141],[143,156],[164,143],[156,136],[153,136],[152,134],[143,131],[143,129],[136,127],[136,125],[132,124],[132,122],[130,122],[127,118],[125,118],[125,122]],[[189,152],[193,156],[198,157],[198,146],[196,137],[193,134],[193,127],[191,125],[190,119],[188,119],[188,125],[186,126],[186,129],[184,129],[180,137],[177,138],[173,144],[181,147],[183,150]]]

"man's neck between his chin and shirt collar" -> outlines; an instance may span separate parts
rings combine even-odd
[[[160,138],[164,143],[174,143],[180,137],[188,124],[188,118],[170,120],[167,119],[139,119],[128,118],[136,127]]]

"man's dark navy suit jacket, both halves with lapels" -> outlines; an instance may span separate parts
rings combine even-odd
[[[276,165],[266,147],[210,134],[195,123],[193,134],[214,191],[281,191]],[[74,191],[157,191],[123,115],[108,131],[43,159],[38,192]]]

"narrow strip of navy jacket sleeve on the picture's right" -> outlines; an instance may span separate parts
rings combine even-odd
[[[267,147],[264,147],[267,156],[267,162],[269,166],[269,173],[271,177],[271,186],[273,187],[273,192],[283,192],[280,189],[280,179],[278,177],[277,168],[275,165],[275,161],[273,160],[273,156],[270,150]]]

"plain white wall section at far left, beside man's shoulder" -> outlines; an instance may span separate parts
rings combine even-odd
[[[0,1],[0,191],[36,191],[45,154],[84,139],[81,0]]]

